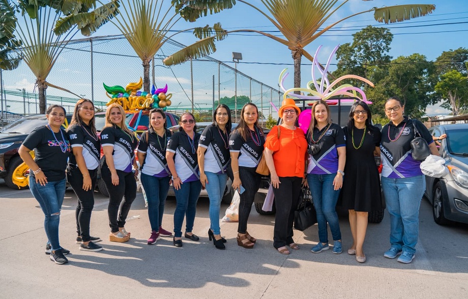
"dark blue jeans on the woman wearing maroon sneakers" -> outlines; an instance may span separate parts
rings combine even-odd
[[[141,184],[148,198],[148,217],[151,230],[159,231],[164,215],[167,192],[169,191],[170,177],[157,178],[141,174]]]

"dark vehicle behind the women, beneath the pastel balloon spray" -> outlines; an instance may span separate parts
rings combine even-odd
[[[296,100],[296,105],[301,109],[301,111],[304,111],[305,109],[312,109],[312,103],[306,103],[304,100]],[[347,125],[348,119],[349,119],[349,110],[350,107],[353,105],[352,102],[344,102],[340,103],[338,105],[338,100],[336,103],[331,103],[329,104],[330,108],[330,114],[332,118],[332,122],[338,123],[341,127]],[[280,124],[281,118],[278,118],[277,124]],[[269,130],[268,130],[269,132]],[[266,134],[268,134],[266,132]],[[379,158],[375,159],[375,162],[377,166],[379,167],[379,172],[382,172],[382,165],[381,161]],[[262,215],[272,215],[276,213],[276,208],[275,205],[272,207],[272,211],[264,211],[261,208],[264,205],[265,202],[265,197],[267,196],[268,189],[270,188],[270,177],[269,176],[264,176],[261,178],[261,183],[260,183],[260,188],[258,189],[258,192],[255,194],[254,198],[254,206],[255,206],[255,211],[257,211],[258,214]],[[384,194],[382,193],[382,210],[379,211],[372,211],[369,212],[368,214],[368,222],[369,223],[380,223],[384,219],[384,214],[385,214],[385,199],[384,199]],[[348,210],[337,205],[336,206],[336,211],[340,215],[348,214]]]

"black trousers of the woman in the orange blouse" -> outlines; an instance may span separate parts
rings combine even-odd
[[[273,246],[277,249],[294,243],[294,211],[298,208],[302,190],[302,178],[280,177],[279,181],[279,188],[273,188],[276,206]]]

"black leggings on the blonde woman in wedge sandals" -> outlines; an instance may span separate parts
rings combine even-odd
[[[118,170],[119,185],[112,185],[112,178],[107,164],[104,163],[101,169],[102,179],[106,184],[109,192],[109,206],[107,207],[107,215],[109,216],[110,231],[118,232],[119,227],[125,226],[128,212],[136,197],[136,180],[132,172],[126,173]],[[123,197],[125,196],[125,199]],[[122,203],[122,208],[119,207]]]

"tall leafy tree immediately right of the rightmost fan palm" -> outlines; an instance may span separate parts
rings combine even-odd
[[[353,34],[353,43],[341,45],[336,51],[337,70],[333,72],[336,78],[353,74],[368,79],[377,65],[389,63],[392,59],[390,51],[393,35],[390,29],[367,26]],[[363,84],[360,80],[350,80],[357,87]]]

